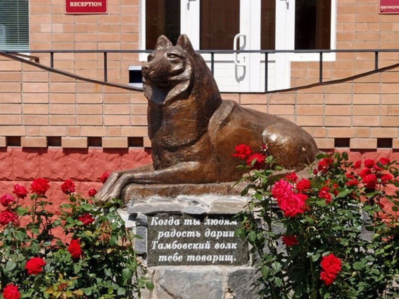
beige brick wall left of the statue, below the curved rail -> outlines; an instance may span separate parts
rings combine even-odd
[[[55,141],[82,148],[95,138],[105,148],[127,148],[129,138],[150,146],[141,92],[82,82],[2,56],[0,76],[0,147],[10,145],[10,137],[20,137],[22,147]]]

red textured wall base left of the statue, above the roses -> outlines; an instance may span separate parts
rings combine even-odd
[[[103,172],[135,168],[151,161],[151,153],[144,149],[3,148],[0,149],[0,195],[13,195],[16,183],[30,191],[32,180],[44,177],[51,186],[46,195],[57,211],[67,200],[60,187],[66,179],[72,179],[76,192],[87,197],[89,189],[100,189],[99,177]],[[25,200],[28,204],[29,199]]]

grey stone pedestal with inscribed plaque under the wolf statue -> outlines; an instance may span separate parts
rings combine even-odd
[[[256,299],[247,244],[234,237],[239,195],[149,196],[132,200],[125,218],[153,291],[144,299]]]

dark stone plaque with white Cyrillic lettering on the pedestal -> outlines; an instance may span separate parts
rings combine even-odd
[[[246,242],[234,237],[232,215],[148,216],[148,266],[245,265]]]

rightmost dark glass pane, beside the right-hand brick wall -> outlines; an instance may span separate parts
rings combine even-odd
[[[295,49],[330,49],[331,0],[295,2]]]

